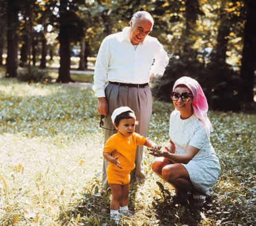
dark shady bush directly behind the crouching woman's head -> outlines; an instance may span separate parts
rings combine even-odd
[[[220,111],[240,111],[243,106],[246,81],[239,78],[238,72],[226,66],[204,63],[197,59],[188,59],[177,55],[170,59],[170,64],[163,77],[153,81],[155,98],[169,101],[174,82],[182,76],[196,79],[204,89],[211,109]],[[212,80],[211,78],[215,78]]]

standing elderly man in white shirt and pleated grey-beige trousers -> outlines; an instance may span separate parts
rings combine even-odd
[[[163,45],[155,37],[148,36],[153,25],[154,20],[148,12],[138,11],[130,20],[130,27],[125,27],[123,32],[110,34],[101,43],[93,90],[98,97],[97,110],[105,115],[102,125],[105,128],[105,142],[116,133],[111,114],[120,106],[129,106],[135,111],[139,121],[135,131],[146,136],[152,113],[149,80],[157,74],[163,75],[169,61]],[[132,172],[133,181],[145,178],[142,160],[143,146],[139,146],[136,168]],[[108,162],[104,160],[104,186],[107,185],[107,166]]]

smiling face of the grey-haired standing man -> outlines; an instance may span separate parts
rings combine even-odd
[[[138,45],[151,31],[152,23],[149,20],[137,20],[135,24],[130,24],[130,42]]]

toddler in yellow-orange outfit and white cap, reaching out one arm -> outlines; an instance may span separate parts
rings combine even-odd
[[[145,145],[152,150],[161,147],[135,133],[137,123],[135,112],[129,107],[122,106],[115,109],[111,120],[118,132],[107,140],[103,156],[109,162],[107,181],[113,196],[110,202],[110,218],[118,224],[122,215],[130,215],[128,209],[130,171],[135,168],[136,147]]]

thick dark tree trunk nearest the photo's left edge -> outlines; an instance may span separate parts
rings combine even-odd
[[[8,1],[7,10],[7,63],[6,75],[8,77],[17,77],[18,63],[18,0]]]

